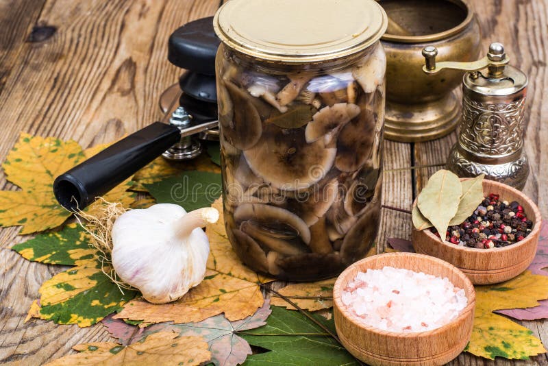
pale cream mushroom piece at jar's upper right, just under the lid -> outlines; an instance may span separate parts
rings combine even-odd
[[[373,93],[377,86],[383,84],[386,72],[386,53],[382,45],[378,45],[369,57],[352,69],[352,76],[364,90]]]

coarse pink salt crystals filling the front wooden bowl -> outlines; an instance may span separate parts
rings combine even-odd
[[[446,278],[394,267],[358,272],[341,296],[364,325],[390,332],[423,332],[458,317],[468,299]]]

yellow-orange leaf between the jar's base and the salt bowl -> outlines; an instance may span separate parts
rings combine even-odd
[[[391,250],[388,248],[388,252]],[[377,254],[375,245],[369,249],[366,257]],[[337,278],[328,278],[316,282],[301,282],[297,284],[289,284],[277,292],[288,297],[292,302],[295,302],[300,308],[316,311],[333,307],[333,286]],[[297,310],[291,304],[277,297],[275,294],[271,297],[271,304],[275,306],[284,306],[288,310]]]

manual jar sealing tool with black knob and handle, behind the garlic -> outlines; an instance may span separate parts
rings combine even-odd
[[[192,159],[201,154],[199,139],[219,139],[215,53],[221,41],[212,19],[187,23],[169,38],[168,59],[186,72],[179,85],[160,97],[161,122],[123,138],[55,179],[53,191],[64,208],[84,209],[158,156]]]

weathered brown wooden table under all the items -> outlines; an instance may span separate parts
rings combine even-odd
[[[161,116],[158,97],[181,71],[166,60],[174,29],[214,14],[222,0],[0,0],[0,160],[21,131],[73,138],[83,147],[120,138]],[[500,41],[530,77],[527,142],[531,173],[525,193],[548,217],[548,1],[475,0],[484,49]],[[47,28],[53,27],[53,28]],[[49,30],[55,30],[53,34]],[[386,141],[384,203],[410,209],[429,175],[445,164],[456,133],[428,143]],[[414,167],[414,169],[410,169]],[[16,190],[0,177],[2,189]],[[379,244],[408,239],[410,217],[384,210]],[[77,343],[112,341],[90,328],[51,321],[23,323],[40,284],[59,266],[31,263],[9,248],[18,228],[0,230],[0,363],[38,365]],[[523,321],[548,346],[547,321]],[[547,356],[500,365],[548,365]],[[462,354],[453,365],[490,365]]]

